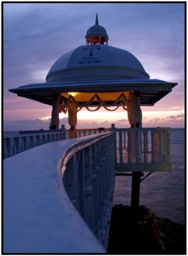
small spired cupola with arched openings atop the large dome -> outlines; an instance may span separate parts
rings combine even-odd
[[[103,26],[99,25],[98,16],[96,14],[95,25],[90,27],[86,33],[86,44],[108,44],[107,31]]]

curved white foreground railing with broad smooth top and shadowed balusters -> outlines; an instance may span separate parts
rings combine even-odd
[[[47,143],[4,160],[5,253],[106,253],[114,142],[113,132],[96,134]],[[36,220],[40,225],[32,225]]]

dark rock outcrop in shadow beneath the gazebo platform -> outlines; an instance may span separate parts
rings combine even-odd
[[[115,205],[109,231],[109,254],[186,254],[185,225],[158,218],[139,206]]]

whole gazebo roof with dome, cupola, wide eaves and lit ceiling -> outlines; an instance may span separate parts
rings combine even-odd
[[[90,102],[96,93],[105,104],[111,105],[119,104],[117,99],[122,92],[128,99],[129,93],[136,91],[140,105],[152,106],[177,85],[150,79],[134,55],[104,44],[108,35],[99,26],[97,17],[85,37],[88,45],[61,56],[49,70],[45,83],[27,84],[9,91],[48,105],[53,105],[54,94],[61,94],[60,101],[64,102],[72,95],[79,104],[89,102],[88,106],[100,105],[96,97]]]

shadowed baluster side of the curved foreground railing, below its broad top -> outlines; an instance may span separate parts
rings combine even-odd
[[[105,248],[115,184],[114,148],[112,132],[88,136],[76,148],[73,145],[65,152],[62,169],[64,187],[71,202]]]

